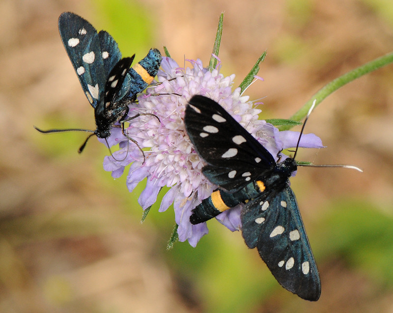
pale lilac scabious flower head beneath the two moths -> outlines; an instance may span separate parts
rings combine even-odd
[[[133,142],[127,142],[120,129],[115,128],[109,142],[111,145],[119,143],[120,149],[113,156],[122,161],[107,156],[104,169],[112,171],[116,178],[131,163],[127,175],[130,192],[147,178],[146,187],[138,199],[143,209],[156,202],[162,187],[169,187],[159,211],[167,210],[173,203],[178,238],[188,240],[195,247],[208,229],[206,223],[190,223],[191,210],[209,197],[217,186],[201,173],[204,161],[199,158],[185,130],[183,118],[188,100],[200,94],[217,101],[274,157],[282,149],[296,146],[299,133],[279,132],[272,124],[259,120],[261,111],[254,108],[248,96],[240,94],[239,87],[232,90],[235,75],[225,77],[220,74],[220,63],[216,68],[208,69],[199,59],[186,61],[191,66],[180,67],[170,57],[164,57],[162,69],[157,74],[161,84],[149,88],[138,98],[138,104],[130,108],[129,117],[137,113],[155,115],[140,115],[130,120],[127,128],[129,137],[140,147],[148,148],[144,151],[145,160],[139,148]],[[321,147],[322,143],[318,137],[309,134],[302,136],[300,146]],[[217,219],[230,230],[239,230],[240,205],[223,212]]]

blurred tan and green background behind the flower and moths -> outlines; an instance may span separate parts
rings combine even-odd
[[[393,51],[390,0],[0,1],[0,312],[392,312],[393,66],[327,98],[306,132],[325,149],[291,179],[320,270],[321,298],[285,291],[239,232],[210,221],[197,248],[166,251],[173,210],[144,224],[125,179],[102,170],[104,145],[62,47],[57,18],[73,11],[106,29],[123,56],[165,45],[208,64],[225,12],[222,73],[239,85],[267,50],[251,99],[263,118],[286,118],[320,87]],[[162,50],[161,50],[162,51]]]

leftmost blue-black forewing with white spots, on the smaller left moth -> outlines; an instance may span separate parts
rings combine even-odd
[[[64,12],[58,19],[60,37],[91,106],[103,101],[108,73],[97,30],[82,17]]]

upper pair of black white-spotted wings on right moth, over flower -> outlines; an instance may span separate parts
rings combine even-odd
[[[207,162],[203,174],[234,193],[275,166],[273,156],[217,102],[195,95],[187,105],[186,129]]]

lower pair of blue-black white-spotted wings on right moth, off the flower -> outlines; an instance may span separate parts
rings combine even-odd
[[[276,280],[303,299],[318,300],[319,273],[292,189],[271,190],[249,201],[241,221],[246,244],[258,249]]]

